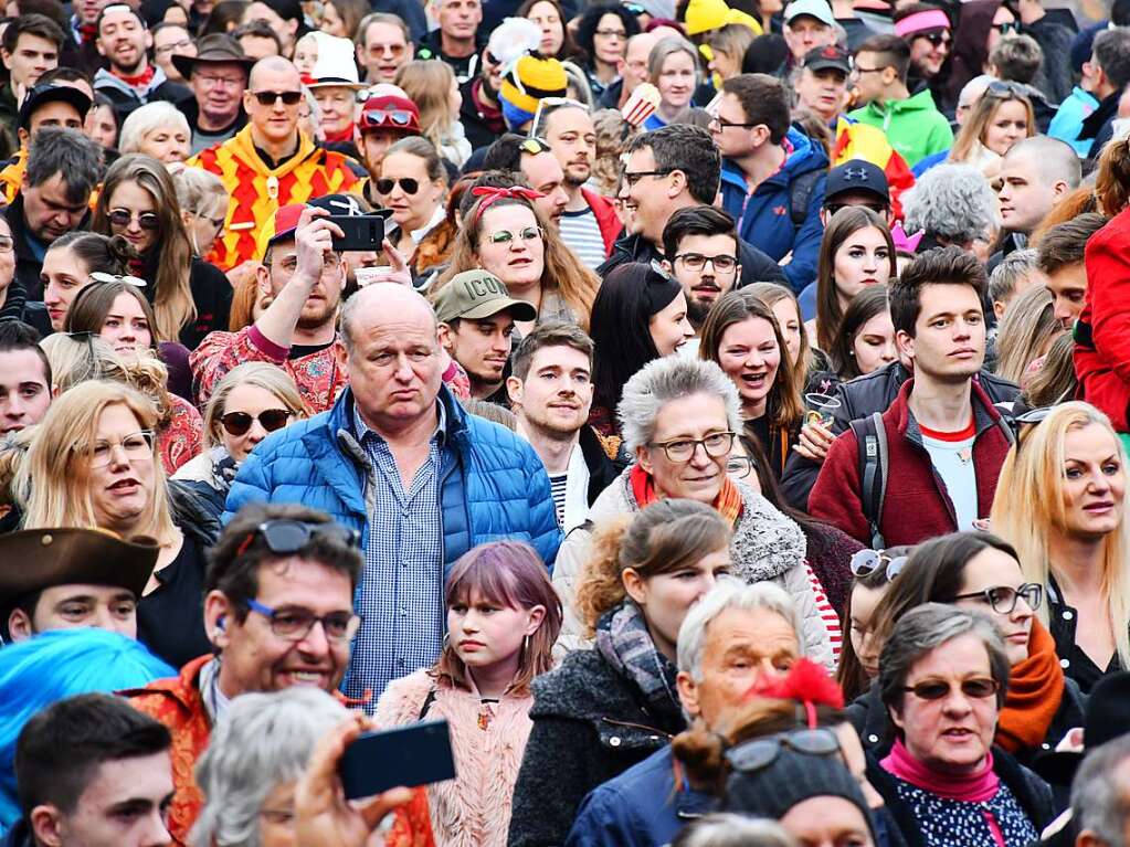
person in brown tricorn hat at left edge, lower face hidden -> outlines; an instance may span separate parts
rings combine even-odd
[[[137,638],[137,604],[160,551],[104,530],[40,529],[0,535],[0,629],[21,641],[96,627]]]

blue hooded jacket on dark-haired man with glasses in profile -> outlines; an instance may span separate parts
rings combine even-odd
[[[791,148],[791,149],[790,149]],[[824,148],[799,130],[789,129],[785,136],[789,157],[773,176],[748,193],[746,177],[733,161],[722,159],[722,208],[738,221],[738,235],[758,250],[780,262],[790,253],[792,259],[782,267],[792,290],[799,292],[816,280],[824,224],[820,207],[828,157]],[[792,184],[797,177],[819,172],[808,193],[805,222],[797,227],[792,221]],[[748,200],[747,200],[748,197]],[[745,208],[745,215],[742,215]]]

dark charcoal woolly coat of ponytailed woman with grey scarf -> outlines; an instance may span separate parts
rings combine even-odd
[[[681,716],[654,714],[599,650],[574,650],[533,682],[533,730],[514,788],[510,847],[565,844],[590,791],[668,744]]]

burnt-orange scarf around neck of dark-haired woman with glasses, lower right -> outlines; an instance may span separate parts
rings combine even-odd
[[[1063,669],[1055,641],[1038,620],[1032,621],[1028,657],[1012,666],[1008,696],[997,719],[997,743],[1015,753],[1038,748],[1063,699]]]

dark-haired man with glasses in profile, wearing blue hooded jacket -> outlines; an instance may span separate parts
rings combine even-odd
[[[828,157],[789,122],[780,80],[742,73],[722,84],[711,132],[723,156],[722,208],[742,241],[782,263],[799,292],[816,279]]]

